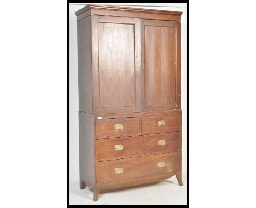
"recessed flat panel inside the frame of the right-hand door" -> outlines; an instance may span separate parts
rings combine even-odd
[[[145,105],[175,102],[175,28],[145,26]]]

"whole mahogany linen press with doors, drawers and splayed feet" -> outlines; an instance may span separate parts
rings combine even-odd
[[[80,188],[181,179],[180,12],[92,5],[78,26]]]

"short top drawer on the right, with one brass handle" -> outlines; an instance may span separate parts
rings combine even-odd
[[[181,131],[181,114],[142,117],[142,133]]]

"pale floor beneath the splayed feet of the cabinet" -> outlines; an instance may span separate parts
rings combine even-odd
[[[175,176],[170,179],[132,188],[102,189],[98,201],[92,201],[92,189],[79,189],[78,181],[69,182],[70,205],[187,205],[187,177],[179,186]]]

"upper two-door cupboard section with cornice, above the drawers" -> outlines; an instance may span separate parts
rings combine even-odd
[[[76,14],[79,111],[181,108],[181,13],[88,5]]]

